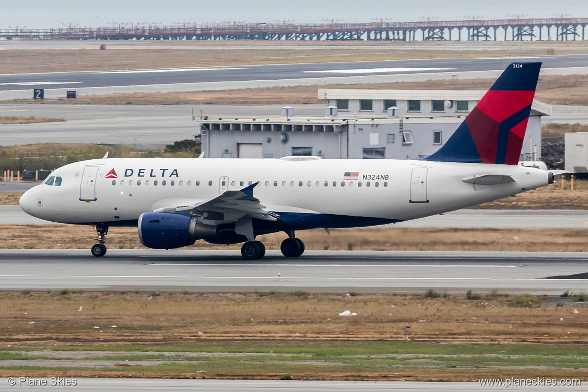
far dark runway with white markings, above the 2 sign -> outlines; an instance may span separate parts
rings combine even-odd
[[[542,72],[588,72],[588,55],[533,56],[520,58],[410,59],[393,61],[337,62],[157,69],[141,71],[54,72],[1,75],[0,99],[31,98],[32,89],[44,88],[45,98],[79,95],[199,91],[267,86],[423,81],[460,78],[492,78],[513,61],[541,61]]]

